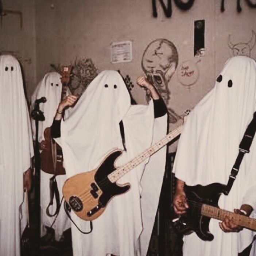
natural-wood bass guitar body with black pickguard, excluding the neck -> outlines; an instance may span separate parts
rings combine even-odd
[[[104,212],[111,198],[129,190],[128,183],[119,186],[108,178],[116,170],[115,161],[121,154],[121,150],[113,150],[95,170],[67,179],[62,193],[78,217],[88,221],[96,219]]]

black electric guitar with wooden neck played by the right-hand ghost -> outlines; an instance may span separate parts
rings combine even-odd
[[[256,231],[256,219],[229,212],[218,207],[218,200],[225,185],[212,183],[207,186],[187,186],[184,190],[189,209],[180,218],[173,220],[175,230],[180,234],[193,231],[204,241],[212,241],[213,234],[209,231],[211,218],[223,221],[225,216],[232,217],[234,222],[244,228]]]

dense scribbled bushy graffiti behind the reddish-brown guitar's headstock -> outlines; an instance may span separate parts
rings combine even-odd
[[[71,63],[73,66],[71,72],[71,81],[69,83],[69,89],[71,94],[80,97],[85,91],[90,82],[97,76],[98,71],[95,67],[92,59],[76,59],[74,63]],[[60,73],[61,65],[51,64],[51,67],[57,72]]]

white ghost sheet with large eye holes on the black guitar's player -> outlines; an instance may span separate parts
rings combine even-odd
[[[175,157],[175,176],[190,186],[227,184],[240,141],[255,110],[256,63],[248,57],[233,57],[226,62],[214,88],[187,118]],[[242,204],[256,209],[255,138],[229,195],[222,194],[218,203],[220,208],[232,212]],[[218,222],[210,221],[209,230],[214,235],[211,242],[200,240],[195,233],[185,236],[183,255],[234,256],[251,243],[252,231],[224,233]]]

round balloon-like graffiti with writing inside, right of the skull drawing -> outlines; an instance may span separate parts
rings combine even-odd
[[[201,60],[199,60],[201,61]],[[186,88],[190,88],[194,85],[199,77],[199,69],[196,63],[191,60],[183,61],[177,69],[177,77],[179,82]]]

